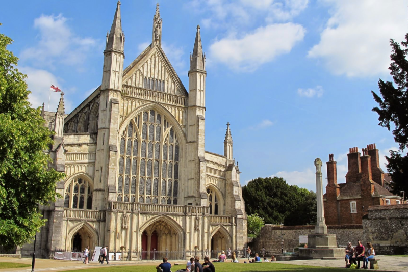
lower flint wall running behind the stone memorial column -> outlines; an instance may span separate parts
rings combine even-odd
[[[338,246],[346,245],[348,241],[352,244],[356,240],[363,239],[362,225],[329,225],[328,233],[334,233],[337,237]],[[299,235],[308,235],[315,232],[315,226],[283,226],[283,249],[293,251],[299,246]],[[266,224],[262,227],[260,235],[249,244],[252,252],[259,253],[265,248],[267,255],[281,253],[281,226]]]

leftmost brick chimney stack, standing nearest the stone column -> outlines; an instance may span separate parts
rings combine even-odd
[[[324,201],[324,216],[326,224],[339,224],[337,197],[340,195],[340,186],[337,184],[337,162],[334,155],[329,154],[327,166],[326,201]]]

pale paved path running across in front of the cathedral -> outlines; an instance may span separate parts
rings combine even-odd
[[[395,256],[377,256],[381,259],[378,262],[380,270],[383,271],[395,271],[395,272],[406,272],[408,271],[408,257],[395,257]],[[246,259],[240,259],[240,263],[244,262]],[[0,262],[15,262],[15,263],[25,263],[31,265],[31,258],[6,258],[0,257]],[[111,261],[109,264],[104,264],[103,266],[120,266],[120,265],[157,265],[160,261]],[[184,264],[185,261],[172,261],[171,263]],[[279,263],[295,264],[295,265],[310,265],[310,266],[321,266],[321,267],[338,267],[343,268],[345,266],[344,260],[298,260],[298,261],[283,261]],[[362,263],[360,265],[363,265]],[[62,260],[44,260],[36,259],[35,271],[64,271],[64,270],[74,270],[74,269],[87,269],[101,267],[98,262],[93,262],[90,264],[83,264],[81,261],[62,261]],[[181,265],[181,267],[184,265]],[[363,272],[365,270],[361,270]],[[13,269],[0,269],[0,272],[31,272],[30,267],[23,268],[13,268]]]

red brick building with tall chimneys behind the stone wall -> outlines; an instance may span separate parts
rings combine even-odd
[[[375,144],[357,147],[347,154],[346,183],[337,183],[337,162],[329,154],[327,186],[323,195],[324,215],[327,225],[362,224],[369,206],[403,203],[403,199],[385,188],[385,173],[379,167],[378,149]],[[364,207],[364,209],[363,209]]]

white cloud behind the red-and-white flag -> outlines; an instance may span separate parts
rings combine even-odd
[[[58,102],[60,101],[60,93],[49,92],[51,84],[58,86],[63,92],[65,91],[58,77],[52,73],[34,69],[31,67],[19,67],[19,71],[27,74],[25,82],[28,85],[28,89],[31,91],[29,95],[29,102],[33,107],[37,108],[45,103],[45,110],[48,111],[48,99],[49,99],[49,111],[55,112],[57,110]],[[72,108],[71,101],[66,96],[64,97],[65,112],[69,112]]]

